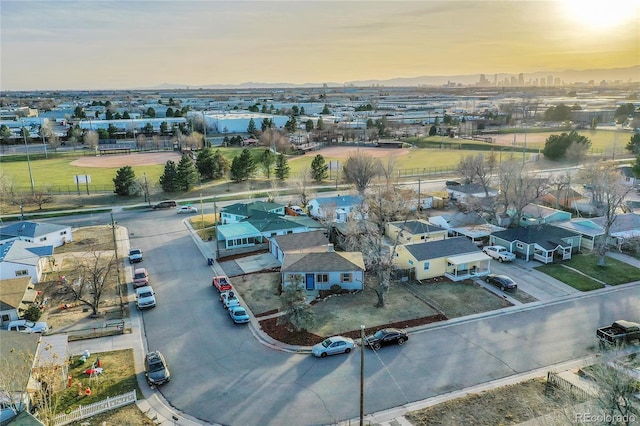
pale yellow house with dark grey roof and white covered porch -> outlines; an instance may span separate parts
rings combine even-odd
[[[417,280],[445,276],[461,281],[491,272],[491,258],[465,237],[396,247],[393,264],[412,269]]]

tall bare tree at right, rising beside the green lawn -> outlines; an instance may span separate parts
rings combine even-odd
[[[604,217],[604,234],[595,244],[599,266],[606,265],[611,226],[616,221],[619,210],[624,207],[625,197],[632,190],[631,186],[623,184],[623,176],[615,167],[614,162],[600,161],[578,172],[580,180],[592,185],[592,202],[596,212]]]

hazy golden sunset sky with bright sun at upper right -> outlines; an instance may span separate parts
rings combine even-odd
[[[0,90],[640,64],[638,0],[0,0]]]

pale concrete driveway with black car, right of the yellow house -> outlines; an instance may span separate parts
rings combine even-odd
[[[518,288],[541,302],[559,297],[580,293],[575,288],[558,281],[535,268],[542,264],[537,261],[525,262],[516,259],[514,262],[500,263],[491,261],[491,272],[508,275],[518,283]]]

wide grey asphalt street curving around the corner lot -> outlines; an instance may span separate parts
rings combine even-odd
[[[158,306],[143,312],[144,331],[148,348],[170,363],[172,381],[160,392],[172,406],[225,425],[330,424],[358,416],[357,351],[315,359],[262,345],[221,308],[213,271],[184,216],[173,210],[114,216],[129,229],[131,245],[145,252]],[[525,276],[523,270],[518,278]],[[640,292],[627,285],[425,327],[403,347],[365,351],[365,413],[593,354],[596,327],[638,317]]]

